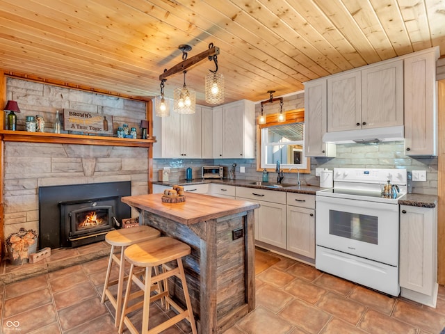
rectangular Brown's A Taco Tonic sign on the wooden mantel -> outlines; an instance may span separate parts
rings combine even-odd
[[[69,132],[113,136],[113,116],[63,109],[63,127]]]

